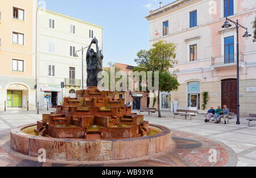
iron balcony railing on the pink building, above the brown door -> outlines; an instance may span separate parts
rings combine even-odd
[[[244,62],[244,54],[240,53],[239,61]],[[235,64],[237,63],[237,55],[225,55],[212,57],[212,65],[221,65],[221,64]]]

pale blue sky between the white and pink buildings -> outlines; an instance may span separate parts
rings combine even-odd
[[[144,17],[151,9],[157,9],[159,2],[167,5],[174,0],[44,1],[48,10],[104,27],[104,66],[107,66],[109,61],[135,65],[137,52],[149,48],[149,23]]]

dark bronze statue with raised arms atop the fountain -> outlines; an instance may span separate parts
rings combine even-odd
[[[94,52],[91,48],[92,44],[96,44],[97,52]],[[98,86],[98,82],[101,80],[101,77],[98,77],[98,73],[102,71],[102,60],[103,55],[98,48],[98,40],[94,38],[86,53],[87,86]]]

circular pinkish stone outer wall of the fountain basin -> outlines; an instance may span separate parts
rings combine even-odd
[[[157,155],[168,150],[171,145],[171,131],[158,125],[150,125],[152,130],[160,130],[158,134],[113,140],[56,139],[23,132],[32,126],[35,125],[11,130],[11,148],[20,154],[33,157],[38,157],[45,150],[46,159],[49,160],[129,160]]]

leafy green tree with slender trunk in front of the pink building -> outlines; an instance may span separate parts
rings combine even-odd
[[[150,50],[139,51],[137,53],[138,59],[135,59],[138,67],[135,67],[134,71],[159,72],[159,90],[154,91],[158,92],[158,117],[162,117],[160,112],[160,92],[171,92],[179,87],[176,76],[178,70],[172,73],[169,71],[174,68],[174,64],[177,64],[175,51],[176,44],[160,40],[153,44]]]

